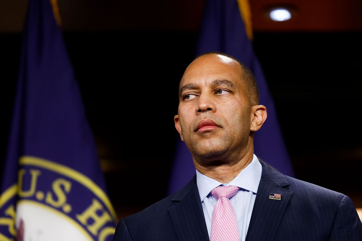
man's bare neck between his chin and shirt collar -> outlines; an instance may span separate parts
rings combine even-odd
[[[213,160],[198,162],[193,158],[197,171],[221,183],[229,183],[253,160],[253,149],[239,160]]]

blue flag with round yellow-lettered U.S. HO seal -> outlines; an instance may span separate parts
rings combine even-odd
[[[113,239],[117,216],[49,0],[30,0],[0,196],[0,240]]]

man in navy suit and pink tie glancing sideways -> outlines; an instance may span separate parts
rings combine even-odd
[[[197,57],[181,78],[174,117],[196,175],[120,220],[114,240],[362,240],[349,197],[257,159],[254,132],[266,116],[245,65],[218,52]]]

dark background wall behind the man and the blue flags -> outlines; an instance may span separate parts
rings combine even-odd
[[[78,2],[76,8],[59,1],[64,40],[119,218],[166,195],[178,138],[173,124],[177,86],[194,57],[203,3],[143,3],[149,10],[137,12],[132,3],[108,1],[109,5],[98,5],[96,11],[96,1]],[[262,16],[257,18],[257,10],[271,4],[262,3],[252,4],[254,51],[274,98],[296,177],[345,193],[356,207],[362,207],[362,27],[356,23],[362,19],[329,25],[331,21],[325,18],[334,9],[329,7],[320,10],[325,14],[316,18],[319,22],[315,25],[310,13],[315,11],[309,10],[305,25],[298,18],[293,20],[294,29],[293,22],[281,23],[282,28],[263,24],[266,20]],[[323,5],[323,1],[316,3]],[[351,6],[356,4],[350,2]],[[304,6],[298,9],[310,9]],[[76,9],[85,16],[83,20],[75,17]],[[351,9],[346,11],[353,17]],[[340,17],[348,18],[344,14]],[[0,30],[10,25],[4,23]],[[20,60],[21,29],[16,28],[0,33],[2,159]],[[132,191],[132,186],[139,185],[143,193]],[[148,185],[156,185],[156,191],[151,192]],[[134,197],[132,202],[121,192]]]

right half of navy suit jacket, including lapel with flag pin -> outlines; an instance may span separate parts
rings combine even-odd
[[[261,164],[247,240],[362,240],[361,221],[349,197]],[[273,194],[280,194],[280,200],[270,199]]]

